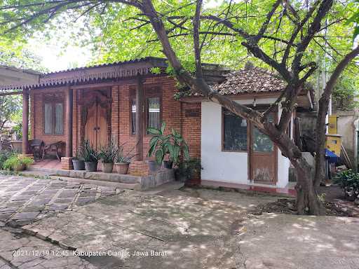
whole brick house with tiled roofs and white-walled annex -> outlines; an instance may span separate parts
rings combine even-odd
[[[151,72],[154,67],[160,74]],[[0,90],[3,95],[21,91],[23,96],[23,153],[28,132],[45,144],[62,142],[65,169],[71,169],[71,157],[84,139],[97,148],[114,139],[128,149],[135,146],[137,160],[130,171],[147,170],[147,127],[159,127],[164,120],[168,131],[182,134],[190,155],[201,158],[202,182],[287,185],[290,164],[276,145],[252,124],[203,97],[176,100],[176,81],[165,74],[166,67],[165,60],[147,57],[43,74],[37,83]],[[255,68],[229,73],[208,65],[205,77],[223,95],[258,109],[273,104],[284,88],[278,78]],[[311,106],[309,92],[302,93],[299,106]],[[280,112],[278,106],[273,120]]]

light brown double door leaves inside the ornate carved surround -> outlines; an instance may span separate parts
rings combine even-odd
[[[107,144],[107,111],[100,104],[93,104],[88,109],[88,119],[85,125],[85,139],[95,149]]]

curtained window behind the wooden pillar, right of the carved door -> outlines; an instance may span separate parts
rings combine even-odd
[[[130,132],[136,134],[136,90],[130,91]],[[160,87],[144,88],[144,127],[159,129],[162,123],[162,90]],[[148,132],[145,132],[148,134]]]

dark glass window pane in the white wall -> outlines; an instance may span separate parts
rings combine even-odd
[[[229,111],[224,111],[223,127],[223,149],[247,151],[247,121]]]

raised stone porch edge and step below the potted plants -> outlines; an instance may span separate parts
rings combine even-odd
[[[148,174],[104,173],[100,169],[97,172],[87,172],[85,170],[64,170],[60,160],[37,160],[28,167],[28,172],[25,174],[41,174],[53,179],[67,179],[99,186],[116,186],[136,191],[144,191],[175,180],[174,170],[165,168]]]

